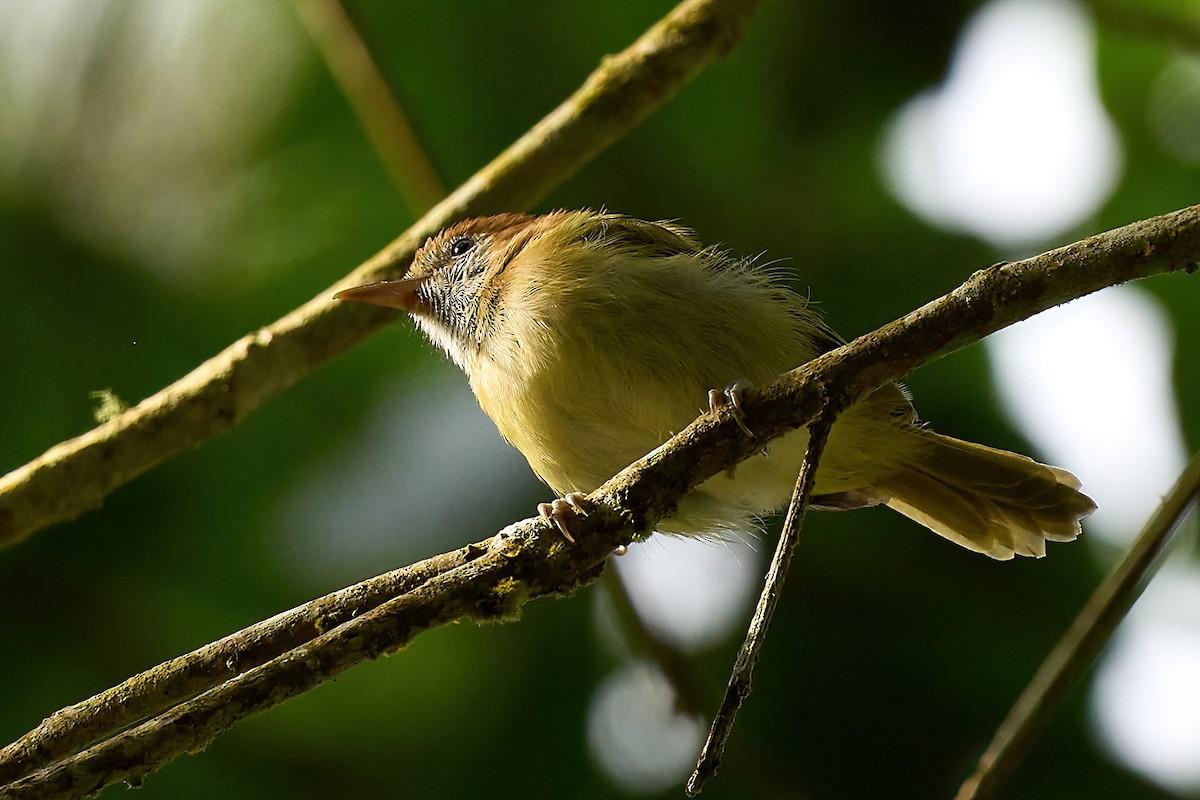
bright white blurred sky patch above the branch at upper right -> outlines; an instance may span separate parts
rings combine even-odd
[[[1085,221],[1112,191],[1116,130],[1096,36],[1068,0],[995,0],[967,23],[941,86],[893,118],[883,173],[930,222],[1022,247]]]

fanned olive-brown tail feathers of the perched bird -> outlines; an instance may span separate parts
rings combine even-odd
[[[1096,510],[1074,475],[1004,450],[910,428],[920,441],[905,468],[875,489],[884,503],[934,533],[994,559],[1045,555],[1069,542]]]

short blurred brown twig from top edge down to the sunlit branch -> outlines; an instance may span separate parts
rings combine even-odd
[[[293,1],[392,184],[420,216],[446,196],[445,187],[354,19],[341,0]]]

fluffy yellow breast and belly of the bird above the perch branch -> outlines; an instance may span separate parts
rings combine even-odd
[[[814,355],[779,289],[696,253],[614,255],[547,237],[496,290],[472,389],[559,493],[592,491],[656,447],[709,389],[766,383]]]

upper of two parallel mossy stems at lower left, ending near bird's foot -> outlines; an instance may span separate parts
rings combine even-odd
[[[0,786],[265,663],[484,552],[482,547],[470,545],[385,572],[276,614],[68,705],[0,750]]]

